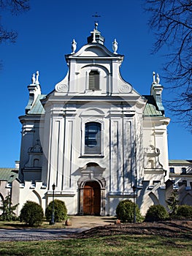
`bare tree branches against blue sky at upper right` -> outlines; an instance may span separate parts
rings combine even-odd
[[[152,53],[168,47],[164,78],[169,89],[180,92],[167,107],[183,118],[192,132],[192,0],[145,0],[145,10],[155,34]]]

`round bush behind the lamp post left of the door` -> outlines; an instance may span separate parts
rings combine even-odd
[[[49,203],[45,210],[45,217],[48,222],[51,220],[53,212],[53,201]],[[67,210],[64,201],[55,199],[54,200],[54,217],[55,222],[62,222],[67,219]]]

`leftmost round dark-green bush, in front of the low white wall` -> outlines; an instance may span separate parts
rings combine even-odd
[[[20,222],[26,222],[30,227],[41,225],[43,217],[42,206],[32,201],[27,201],[20,211]]]

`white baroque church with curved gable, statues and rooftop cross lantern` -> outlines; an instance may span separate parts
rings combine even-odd
[[[11,189],[18,214],[27,200],[45,210],[53,184],[55,198],[72,215],[115,215],[120,200],[134,198],[143,215],[151,205],[166,206],[175,184],[158,74],[150,95],[139,94],[120,75],[118,42],[107,49],[97,23],[80,50],[73,40],[65,59],[66,77],[50,94],[41,93],[39,72],[32,76],[26,113],[19,117],[18,176],[0,181],[1,197]]]

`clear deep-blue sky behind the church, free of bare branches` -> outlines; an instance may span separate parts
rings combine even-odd
[[[25,113],[28,102],[28,84],[31,75],[39,70],[42,94],[53,91],[67,71],[65,54],[71,53],[71,42],[77,50],[87,43],[98,12],[99,31],[105,37],[105,46],[112,50],[112,41],[118,41],[118,53],[124,55],[120,72],[140,94],[150,94],[153,71],[162,73],[164,57],[151,55],[154,35],[149,31],[149,14],[142,8],[143,0],[119,1],[63,1],[31,0],[31,10],[22,15],[1,14],[7,29],[18,31],[15,44],[0,45],[0,167],[14,167],[19,160],[21,124],[18,116]],[[168,86],[161,80],[163,86]],[[163,98],[173,95],[164,89]],[[166,111],[172,118],[172,113]],[[171,121],[168,129],[169,159],[191,159],[191,134],[180,124]]]

